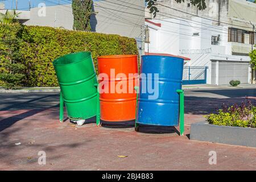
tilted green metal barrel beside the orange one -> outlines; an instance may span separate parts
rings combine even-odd
[[[53,61],[60,90],[71,119],[96,115],[97,84],[90,52],[71,53]]]

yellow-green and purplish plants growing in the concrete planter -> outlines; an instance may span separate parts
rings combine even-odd
[[[242,102],[240,106],[224,104],[217,114],[208,114],[205,118],[212,125],[256,127],[256,107],[250,100]]]

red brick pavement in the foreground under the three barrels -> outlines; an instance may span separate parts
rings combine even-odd
[[[123,125],[79,127],[60,123],[58,113],[57,108],[0,111],[0,169],[256,170],[256,148],[192,141],[173,127],[141,127],[141,133]],[[185,134],[203,113],[185,114]],[[39,151],[46,152],[46,165],[38,164]],[[217,152],[216,165],[208,163],[209,151]]]

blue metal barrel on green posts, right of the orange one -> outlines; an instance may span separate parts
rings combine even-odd
[[[179,94],[176,90],[181,89],[183,64],[184,59],[180,57],[142,56],[137,123],[158,126],[179,125]],[[152,81],[148,80],[150,78],[148,73],[152,73]],[[154,73],[158,73],[158,79],[154,77]],[[158,90],[157,87],[154,88],[154,82],[158,84]],[[145,84],[147,84],[146,92]],[[155,89],[154,93],[148,92],[148,86]],[[154,94],[154,99],[149,97]]]

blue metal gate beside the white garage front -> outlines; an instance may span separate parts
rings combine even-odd
[[[183,85],[206,84],[208,67],[187,67],[183,69]]]

